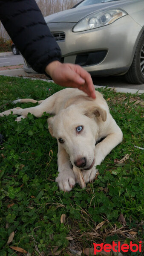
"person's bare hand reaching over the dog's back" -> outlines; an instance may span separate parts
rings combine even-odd
[[[81,66],[52,61],[46,66],[45,71],[56,84],[64,87],[78,88],[95,99],[95,87],[92,78]]]

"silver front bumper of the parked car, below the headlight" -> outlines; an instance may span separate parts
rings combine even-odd
[[[92,75],[126,73],[130,68],[141,26],[129,15],[114,23],[84,32],[72,32],[75,23],[48,23],[51,32],[64,32],[59,41],[63,62],[80,64]],[[99,53],[102,57],[99,58]],[[91,58],[91,62],[87,61]],[[79,59],[79,62],[78,62]]]

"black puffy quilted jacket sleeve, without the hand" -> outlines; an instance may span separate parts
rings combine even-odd
[[[35,0],[0,0],[0,20],[35,71],[44,73],[47,64],[60,61],[60,48]]]

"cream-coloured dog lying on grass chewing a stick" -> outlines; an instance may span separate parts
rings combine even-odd
[[[36,117],[43,112],[54,114],[48,118],[48,128],[58,141],[58,177],[60,190],[70,191],[76,176],[72,166],[82,170],[85,183],[94,180],[97,165],[100,165],[109,152],[122,141],[121,129],[109,113],[107,102],[101,93],[95,91],[96,99],[72,88],[58,91],[45,100],[18,99],[17,102],[38,102],[32,108],[13,108],[0,113],[0,116],[20,115],[17,121],[26,118],[28,113]],[[100,143],[97,143],[104,138]],[[96,144],[97,143],[97,144]]]

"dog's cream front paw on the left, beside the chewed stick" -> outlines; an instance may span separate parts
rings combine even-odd
[[[75,176],[72,170],[60,171],[55,179],[58,182],[58,187],[63,191],[71,191],[75,186]]]

